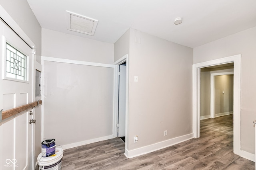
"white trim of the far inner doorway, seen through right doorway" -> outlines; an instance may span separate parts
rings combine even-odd
[[[217,72],[217,73],[211,73],[210,74],[210,115],[211,118],[215,118],[215,107],[214,107],[214,92],[215,92],[215,86],[214,86],[214,76],[222,76],[222,75],[229,75],[234,74],[233,71],[230,72]]]

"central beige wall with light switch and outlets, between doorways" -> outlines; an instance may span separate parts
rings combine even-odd
[[[128,150],[150,150],[159,143],[166,147],[172,143],[166,141],[192,133],[192,53],[189,47],[130,29]]]

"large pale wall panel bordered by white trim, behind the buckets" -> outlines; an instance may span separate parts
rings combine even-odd
[[[44,61],[44,137],[73,147],[112,136],[113,75],[113,68]]]

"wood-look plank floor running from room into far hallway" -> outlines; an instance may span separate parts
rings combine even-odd
[[[110,139],[64,150],[62,170],[255,170],[233,153],[233,115],[201,121],[201,137],[136,158],[124,156],[124,142]]]

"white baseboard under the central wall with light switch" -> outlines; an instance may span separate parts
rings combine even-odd
[[[166,148],[166,147],[170,147],[172,145],[187,141],[187,140],[192,139],[192,138],[194,138],[194,133],[190,133],[188,135],[176,137],[176,138],[173,138],[173,139],[168,139],[166,141],[162,141],[162,142],[159,142],[159,143],[154,143],[152,145],[148,145],[148,146],[133,149],[133,150],[125,149],[124,155],[127,158],[134,158],[134,157],[140,156],[142,154],[147,154],[147,153],[150,153],[150,152],[154,152],[156,150],[160,150],[160,149],[163,149],[163,148]]]

